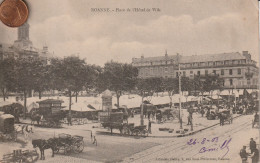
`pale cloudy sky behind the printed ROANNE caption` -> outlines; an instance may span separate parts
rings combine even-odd
[[[144,55],[199,55],[248,50],[258,60],[257,0],[26,0],[30,39],[56,56],[88,63],[131,62]],[[159,8],[160,12],[91,12],[91,8]],[[0,42],[17,29],[0,24]]]

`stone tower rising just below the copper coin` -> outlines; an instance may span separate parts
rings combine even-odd
[[[27,22],[18,28],[18,39],[14,41],[15,47],[32,47],[32,42],[29,39],[29,28],[30,25]]]

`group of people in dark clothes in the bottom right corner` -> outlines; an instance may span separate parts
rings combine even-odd
[[[250,153],[247,153],[246,146],[243,146],[243,148],[240,150],[240,157],[242,159],[242,163],[246,163],[248,157],[252,159],[252,163],[258,163],[259,162],[259,150],[256,147],[256,142],[253,138],[250,139],[249,143]]]

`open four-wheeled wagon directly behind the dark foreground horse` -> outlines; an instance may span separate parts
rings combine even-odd
[[[82,136],[78,135],[69,135],[69,134],[59,134],[56,139],[56,148],[55,153],[63,151],[66,155],[70,152],[81,153],[84,149],[84,141]]]

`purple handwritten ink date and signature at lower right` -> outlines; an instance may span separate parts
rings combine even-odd
[[[232,138],[226,139],[223,142],[219,141],[218,137],[214,137],[212,139],[203,138],[202,141],[199,141],[197,139],[190,139],[187,144],[188,145],[203,145],[202,148],[200,148],[199,153],[206,153],[206,152],[216,152],[219,150],[226,150],[226,153],[222,156],[225,157],[229,152],[229,143],[231,142]],[[205,146],[204,146],[205,145]],[[206,145],[210,145],[209,147],[206,147]],[[213,147],[211,147],[213,145]]]

